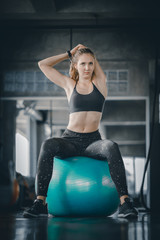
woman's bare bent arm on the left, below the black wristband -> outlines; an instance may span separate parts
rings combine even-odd
[[[63,53],[59,55],[55,55],[46,59],[43,59],[38,62],[38,66],[41,69],[41,71],[45,74],[45,76],[54,82],[56,85],[66,88],[69,77],[61,74],[59,71],[57,71],[53,66],[55,66],[57,63],[62,62],[64,60],[68,59],[68,54]]]

